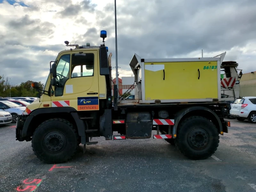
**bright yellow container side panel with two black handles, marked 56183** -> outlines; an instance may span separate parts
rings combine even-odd
[[[145,63],[145,99],[218,98],[217,61]]]

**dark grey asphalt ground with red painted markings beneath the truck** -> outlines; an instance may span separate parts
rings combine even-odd
[[[164,140],[93,138],[65,164],[44,164],[15,125],[0,127],[0,191],[256,192],[256,125],[230,120],[214,156],[189,160]]]

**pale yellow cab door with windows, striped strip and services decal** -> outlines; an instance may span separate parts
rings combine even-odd
[[[57,78],[64,80],[56,86],[52,107],[72,107],[80,111],[99,110],[97,50],[73,51],[68,56],[61,55],[57,65]]]

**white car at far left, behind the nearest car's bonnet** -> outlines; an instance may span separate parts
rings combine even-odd
[[[22,115],[26,107],[20,107],[16,103],[10,101],[0,101],[0,111],[7,111],[12,115],[12,123],[16,123],[18,115]]]

